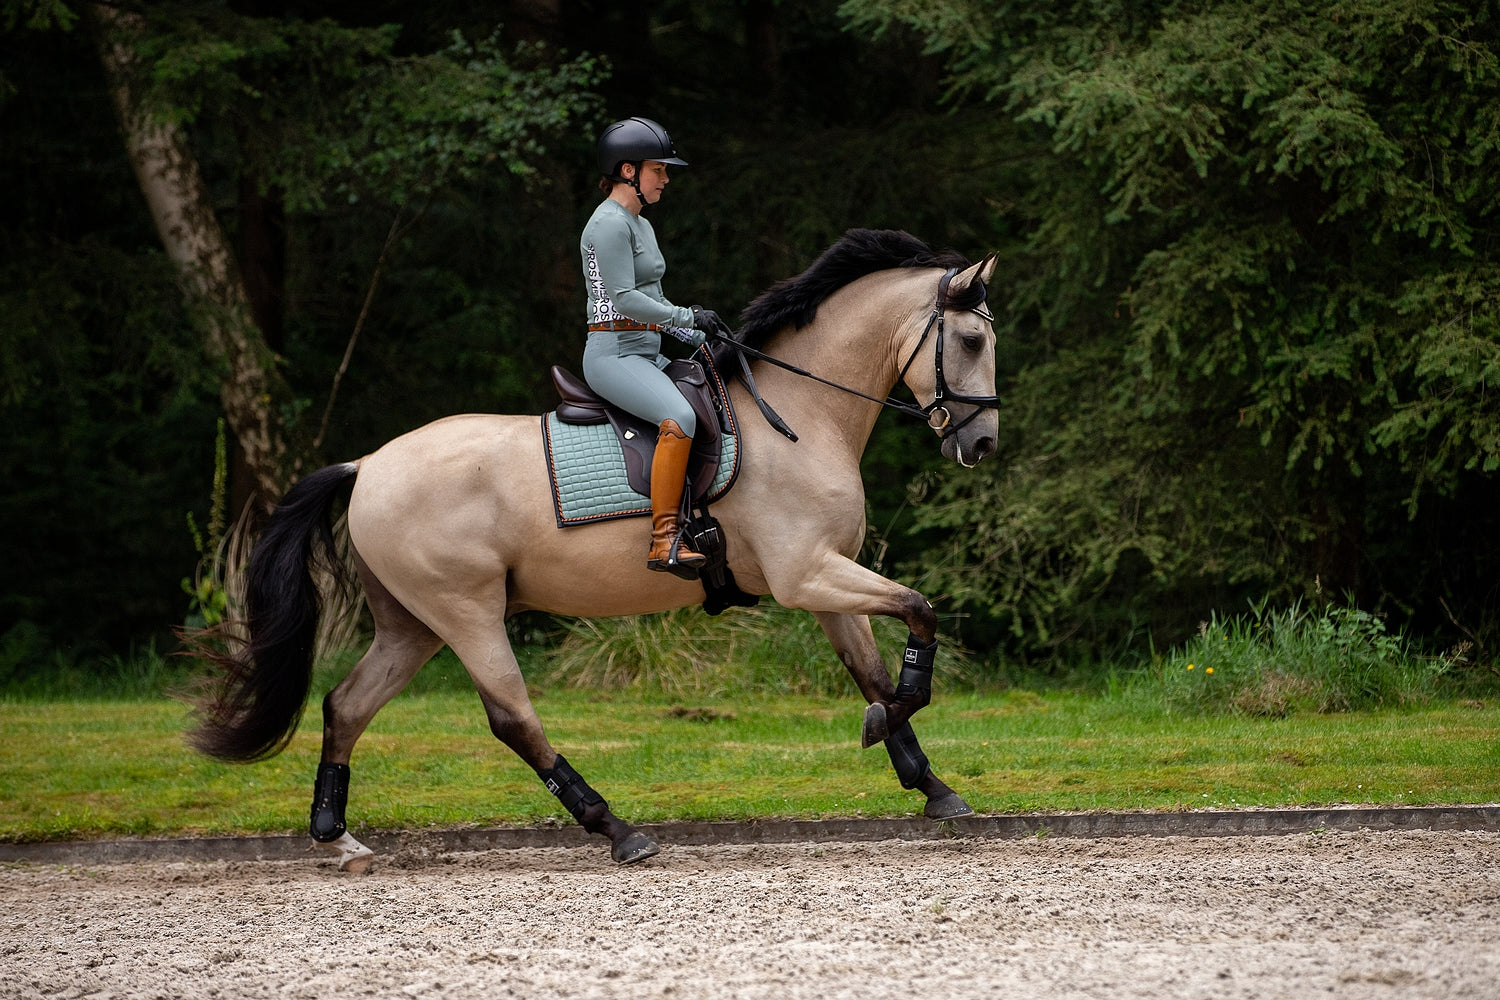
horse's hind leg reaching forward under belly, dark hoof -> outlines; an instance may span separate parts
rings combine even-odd
[[[609,855],[618,864],[630,865],[660,853],[656,841],[615,816],[604,798],[552,748],[531,705],[502,619],[476,615],[471,621],[494,621],[495,625],[492,631],[476,628],[470,636],[452,637],[448,645],[474,678],[496,739],[537,772],[548,792],[584,829],[609,838]]]

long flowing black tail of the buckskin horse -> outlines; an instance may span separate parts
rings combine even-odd
[[[196,726],[188,736],[195,750],[250,762],[273,757],[291,741],[312,687],[322,613],[312,568],[321,564],[348,583],[333,505],[348,495],[357,471],[354,463],[330,465],[286,492],[250,552],[240,634],[231,627],[192,640],[194,652],[218,666],[196,699]]]

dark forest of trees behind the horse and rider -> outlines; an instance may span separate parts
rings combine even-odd
[[[867,558],[970,648],[1336,600],[1494,661],[1500,10],[1437,0],[3,0],[4,660],[171,645],[220,418],[232,517],[550,408],[630,114],[692,162],[651,213],[676,301],[732,316],[850,226],[999,253],[999,454],[890,414],[867,454]],[[132,127],[201,177],[218,283]]]

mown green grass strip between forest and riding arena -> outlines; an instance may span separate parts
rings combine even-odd
[[[561,753],[633,822],[903,816],[858,699],[670,702],[542,691]],[[220,765],[171,700],[0,702],[0,840],[306,829],[318,696],[291,747]],[[1143,717],[1077,694],[946,696],[916,720],[933,768],[980,813],[1500,801],[1500,708]],[[406,693],[356,748],[354,831],[568,819],[489,733],[472,691]]]

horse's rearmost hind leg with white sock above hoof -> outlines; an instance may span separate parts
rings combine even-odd
[[[339,868],[363,873],[374,852],[345,826],[350,795],[350,757],[354,744],[417,670],[442,648],[430,628],[417,621],[356,556],[366,601],[375,618],[375,640],[327,697],[322,699],[322,757],[312,793],[312,840],[339,856]]]

